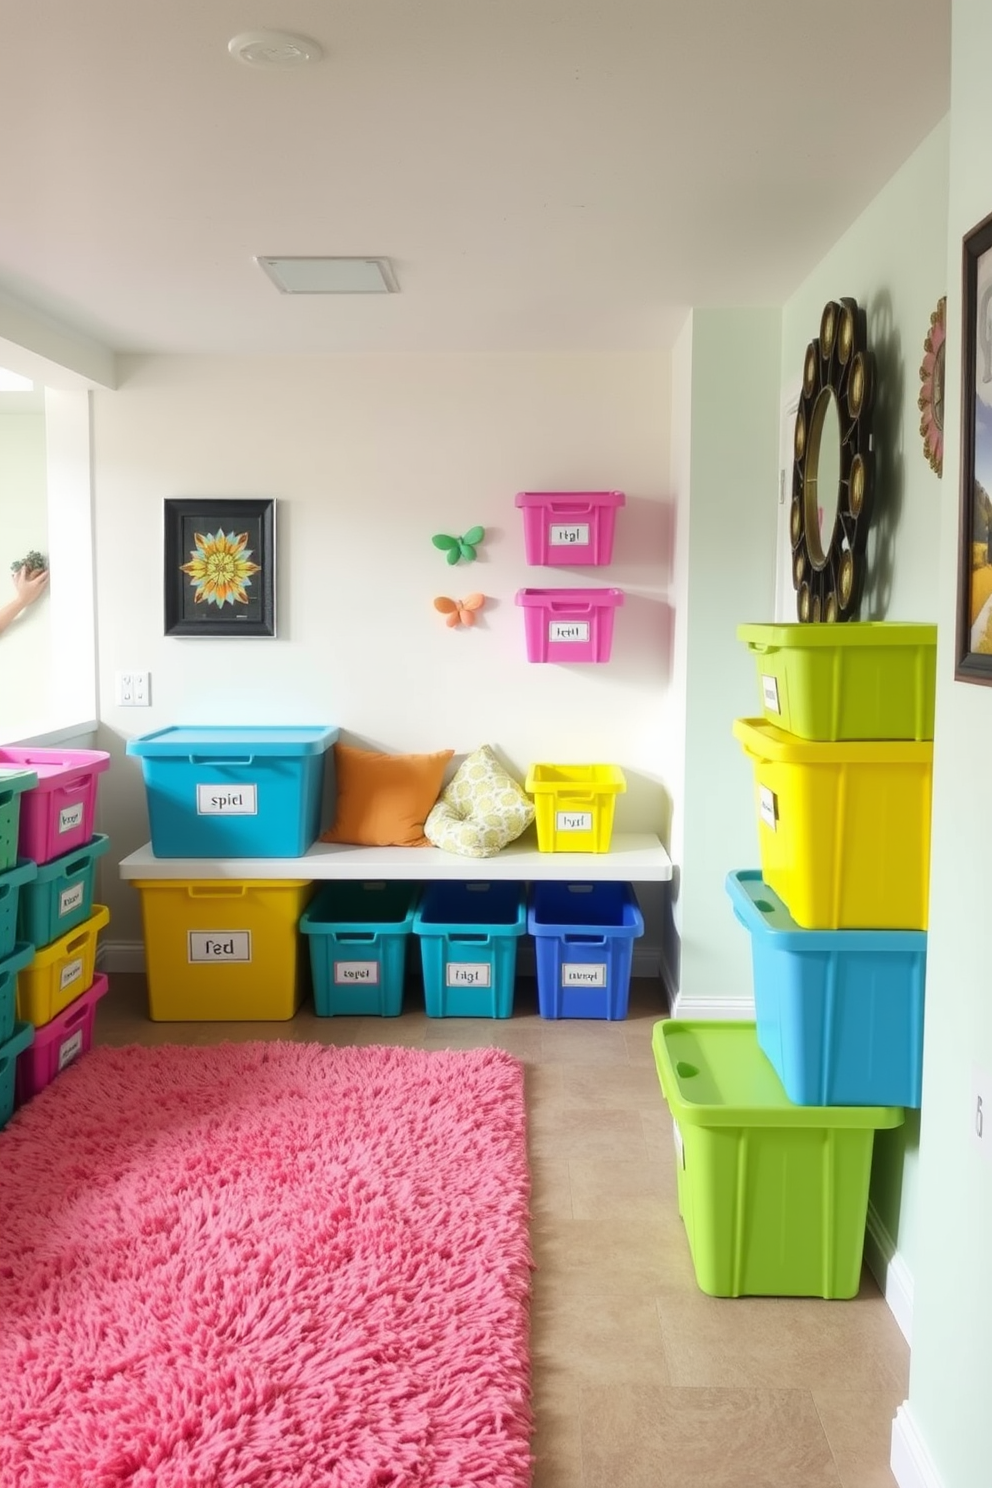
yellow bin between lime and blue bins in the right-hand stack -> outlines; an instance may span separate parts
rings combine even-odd
[[[803,930],[925,930],[934,745],[812,744],[738,719],[761,878]]]

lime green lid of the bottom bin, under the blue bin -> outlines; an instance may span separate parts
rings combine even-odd
[[[696,1126],[901,1126],[901,1106],[793,1106],[753,1022],[654,1024],[654,1062],[672,1116]]]

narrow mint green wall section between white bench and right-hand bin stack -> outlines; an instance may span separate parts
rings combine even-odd
[[[689,463],[678,491],[675,647],[684,646],[684,790],[672,841],[681,844],[678,1012],[751,1000],[751,942],[724,890],[730,869],[757,862],[754,778],[732,734],[759,710],[754,661],[741,620],[773,618],[778,501],[778,310],[695,310]],[[672,446],[683,448],[684,430]],[[684,570],[684,571],[681,571]],[[677,808],[678,809],[678,808]],[[726,1003],[726,1009],[721,1006]]]

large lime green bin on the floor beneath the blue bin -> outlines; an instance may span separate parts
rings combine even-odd
[[[709,1296],[852,1298],[875,1132],[900,1106],[793,1106],[753,1022],[654,1025],[678,1210]]]

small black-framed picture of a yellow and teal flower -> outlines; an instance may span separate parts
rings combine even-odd
[[[275,501],[165,501],[165,634],[275,635]]]

